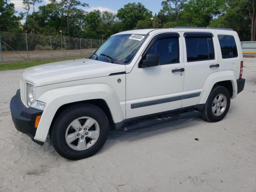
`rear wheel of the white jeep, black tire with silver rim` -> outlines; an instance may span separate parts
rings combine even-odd
[[[230,107],[230,93],[224,86],[215,86],[210,92],[204,109],[202,118],[209,122],[222,120]]]

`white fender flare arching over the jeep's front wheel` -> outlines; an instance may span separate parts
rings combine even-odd
[[[114,90],[107,84],[86,84],[49,90],[37,100],[46,103],[36,130],[35,140],[45,142],[50,125],[57,110],[69,103],[103,99],[110,109],[114,122],[124,120],[120,100]]]

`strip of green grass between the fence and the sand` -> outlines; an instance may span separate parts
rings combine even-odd
[[[86,58],[87,56],[83,57]],[[72,59],[80,59],[82,57],[69,57],[69,58],[58,58],[58,59],[50,59],[50,60],[32,60],[32,61],[21,61],[15,63],[6,63],[0,64],[0,71],[3,70],[16,70],[16,69],[24,69],[36,65],[42,65],[46,63],[58,62],[58,61],[66,61]]]

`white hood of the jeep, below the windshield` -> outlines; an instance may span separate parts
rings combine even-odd
[[[109,76],[125,72],[124,65],[91,59],[76,59],[30,67],[22,71],[22,79],[36,87],[74,80]]]

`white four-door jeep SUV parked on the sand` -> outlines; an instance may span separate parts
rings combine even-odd
[[[201,115],[222,120],[244,88],[236,32],[144,29],[111,36],[90,58],[27,68],[10,102],[17,130],[46,136],[71,160],[95,154],[110,128],[132,131]]]

